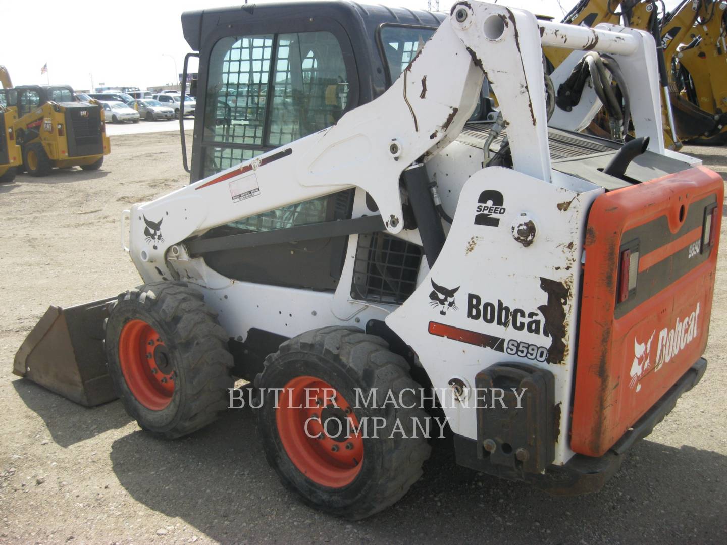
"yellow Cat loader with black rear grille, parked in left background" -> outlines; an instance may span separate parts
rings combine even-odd
[[[99,169],[111,153],[103,110],[97,103],[77,102],[67,85],[21,85],[5,89],[7,108],[17,118],[15,141],[22,166],[31,176],[54,168]]]

